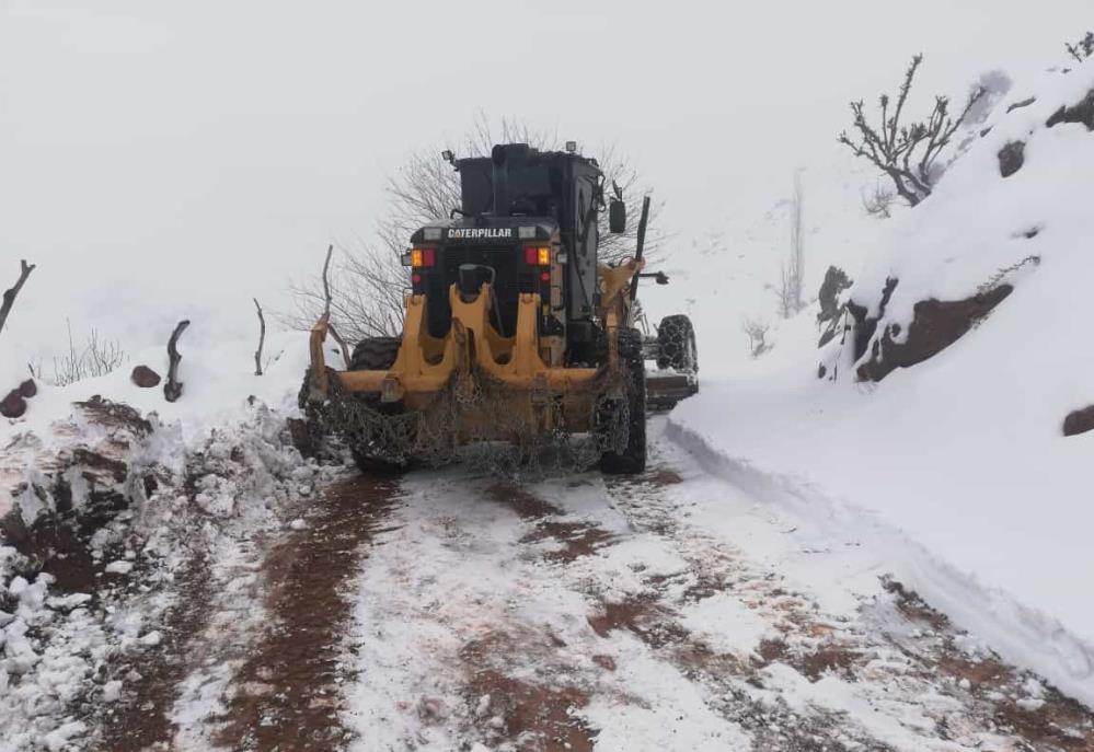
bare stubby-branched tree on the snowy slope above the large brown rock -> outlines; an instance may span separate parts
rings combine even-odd
[[[851,149],[855,157],[868,160],[885,173],[909,206],[915,206],[931,195],[938,178],[935,169],[938,154],[949,144],[972,106],[984,95],[982,86],[974,89],[956,118],[949,113],[949,97],[935,96],[934,108],[926,120],[901,123],[908,94],[922,62],[922,55],[912,58],[895,104],[888,94],[880,95],[878,105],[882,112],[877,126],[866,119],[863,101],[859,100],[851,103],[854,138],[845,130],[839,136],[840,143]]]

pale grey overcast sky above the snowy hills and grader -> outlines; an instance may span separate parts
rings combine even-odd
[[[284,306],[327,242],[369,235],[384,176],[479,112],[615,143],[686,247],[831,160],[847,102],[891,89],[911,54],[924,95],[963,95],[984,70],[1061,61],[1092,11],[0,0],[0,287],[39,264],[0,358],[66,316],[130,348],[183,315],[250,331],[252,296]]]

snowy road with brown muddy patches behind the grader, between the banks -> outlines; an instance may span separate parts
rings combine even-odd
[[[241,544],[231,571],[195,569],[212,592],[165,628],[143,671],[159,680],[89,738],[1094,749],[1089,710],[886,578],[876,542],[757,502],[652,428],[652,470],[634,479],[347,475],[284,533]]]

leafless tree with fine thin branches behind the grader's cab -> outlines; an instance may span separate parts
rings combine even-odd
[[[554,132],[536,130],[528,125],[503,118],[495,128],[490,118],[480,114],[460,144],[444,144],[461,157],[490,154],[495,143],[528,143],[541,149],[558,149],[562,143]],[[292,288],[293,311],[283,316],[296,328],[308,328],[323,310],[330,321],[350,342],[366,337],[393,336],[402,331],[403,298],[407,292],[407,271],[400,257],[410,236],[424,224],[449,217],[461,204],[460,176],[440,159],[442,147],[412,154],[406,163],[388,177],[388,206],[377,222],[377,239],[356,250],[338,248],[333,275],[326,284],[307,280]],[[614,181],[629,201],[629,213],[636,218],[643,189],[641,175],[614,146],[595,150],[606,183]],[[646,231],[645,255],[656,257],[663,242],[653,222],[661,205],[650,208],[650,227]],[[599,218],[599,254],[604,262],[619,262],[634,252],[637,222],[629,222],[625,233],[608,232],[607,212]],[[330,302],[327,302],[327,300]]]

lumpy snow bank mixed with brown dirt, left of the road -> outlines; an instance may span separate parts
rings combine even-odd
[[[0,421],[0,752],[93,744],[101,701],[126,702],[147,651],[176,639],[179,625],[158,628],[193,595],[176,575],[298,517],[331,477],[286,425],[307,335],[266,346],[255,377],[253,343],[184,336],[175,403],[129,380],[138,363],[165,377],[157,348],[100,379],[39,384],[23,418]]]

